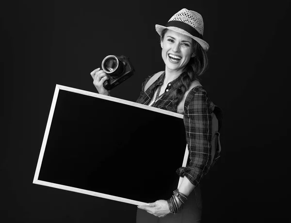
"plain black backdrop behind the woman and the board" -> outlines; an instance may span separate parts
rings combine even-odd
[[[90,72],[123,54],[136,72],[112,96],[135,101],[142,81],[164,69],[155,24],[182,8],[203,16],[210,68],[202,85],[224,111],[203,222],[287,221],[290,1],[15,0],[0,5],[2,222],[135,221],[133,205],[32,179],[55,85],[96,92]]]

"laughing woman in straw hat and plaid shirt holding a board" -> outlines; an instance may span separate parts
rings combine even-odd
[[[203,40],[203,29],[201,15],[187,9],[176,13],[165,26],[156,25],[165,70],[146,78],[137,103],[184,114],[189,159],[186,167],[177,170],[183,180],[171,198],[138,206],[138,223],[201,221],[199,183],[220,153],[220,149],[213,153],[213,145],[217,145],[211,141],[213,113],[221,122],[221,110],[210,101],[198,81],[208,65],[209,45]],[[109,79],[106,73],[96,69],[91,76],[98,92],[110,95],[103,87]]]

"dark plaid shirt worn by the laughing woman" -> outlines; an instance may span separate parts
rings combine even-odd
[[[145,92],[146,83],[152,76],[147,77],[143,82],[137,103],[148,104],[151,101],[156,89],[163,84],[165,72]],[[210,101],[202,86],[196,86],[189,92],[185,100],[184,112],[177,111],[177,106],[173,104],[173,98],[171,98],[172,91],[177,87],[178,81],[175,79],[168,84],[160,100],[152,106],[184,115],[189,157],[186,167],[178,168],[177,174],[181,177],[186,176],[194,186],[197,186],[202,176],[209,171],[210,166],[219,157],[219,154],[216,153],[211,165],[211,113],[214,108],[218,107]],[[216,111],[222,114],[220,108],[215,109],[215,114]],[[220,124],[221,117],[221,115],[217,116]]]

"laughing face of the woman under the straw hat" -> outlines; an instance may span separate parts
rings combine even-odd
[[[183,70],[191,57],[194,57],[193,39],[189,36],[167,30],[161,39],[162,59],[166,69]]]

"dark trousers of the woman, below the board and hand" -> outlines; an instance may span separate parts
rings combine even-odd
[[[158,218],[145,210],[137,208],[136,223],[200,223],[201,214],[201,189],[200,186],[197,186],[189,194],[188,200],[180,207],[177,214],[170,213],[165,217]]]

